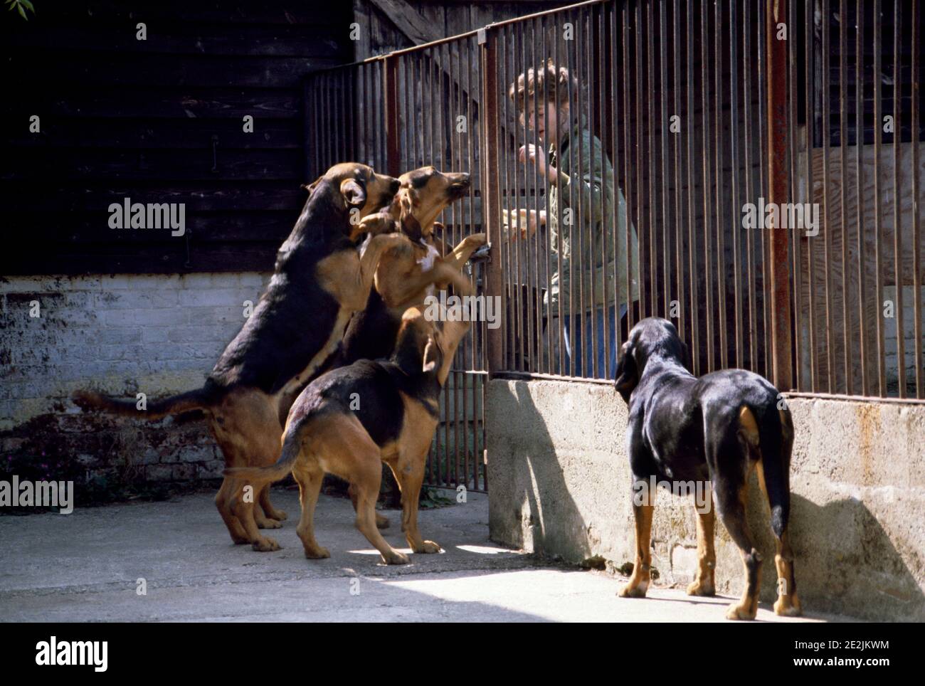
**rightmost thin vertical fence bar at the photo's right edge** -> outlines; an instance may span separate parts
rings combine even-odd
[[[919,227],[919,88],[921,84],[920,69],[922,62],[921,43],[919,31],[921,29],[919,18],[919,4],[912,3],[912,62],[911,96],[909,103],[909,116],[912,123],[909,141],[912,148],[912,328],[916,346],[916,398],[925,398],[925,379],[922,378],[922,284],[921,284],[921,232]]]

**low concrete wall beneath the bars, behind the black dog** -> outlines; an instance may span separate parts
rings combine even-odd
[[[790,532],[808,614],[925,619],[925,406],[791,398]],[[634,559],[626,407],[610,386],[492,380],[487,390],[491,538],[549,557]],[[749,521],[774,598],[768,506],[753,478]],[[692,499],[660,491],[658,583],[690,581]],[[770,563],[770,564],[769,564]],[[739,594],[738,552],[717,524],[717,590]]]

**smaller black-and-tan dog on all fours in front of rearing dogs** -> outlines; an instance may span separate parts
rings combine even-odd
[[[467,293],[459,276],[457,292]],[[296,532],[305,557],[329,557],[314,539],[314,507],[326,473],[346,480],[356,493],[356,527],[386,564],[408,556],[388,545],[376,528],[382,462],[401,488],[401,523],[415,553],[438,553],[417,528],[417,508],[427,451],[437,430],[440,389],[468,322],[430,322],[417,308],[404,313],[388,361],[360,360],[322,374],[293,403],[277,463],[262,469],[226,470],[254,488],[292,472],[299,484],[302,519]]]

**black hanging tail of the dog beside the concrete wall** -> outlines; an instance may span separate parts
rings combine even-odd
[[[790,454],[794,447],[794,423],[790,410],[779,409],[776,399],[759,414],[759,445],[771,506],[771,529],[780,538],[790,520]]]

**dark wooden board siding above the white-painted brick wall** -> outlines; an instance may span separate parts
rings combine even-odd
[[[0,15],[0,274],[271,268],[304,199],[301,79],[351,61],[350,3],[35,6]],[[126,197],[185,202],[186,235],[110,229]]]

